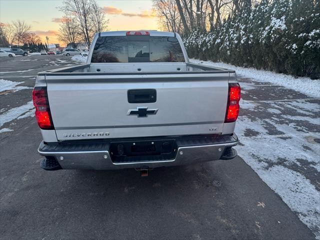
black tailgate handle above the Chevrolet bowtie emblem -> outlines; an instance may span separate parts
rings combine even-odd
[[[129,103],[148,103],[156,101],[155,89],[130,89],[128,90]]]

